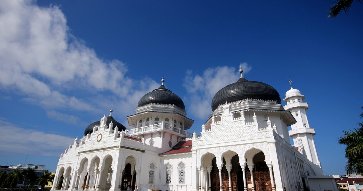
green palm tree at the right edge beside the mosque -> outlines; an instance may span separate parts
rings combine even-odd
[[[363,110],[363,107],[362,107]],[[363,112],[360,113],[360,118]],[[346,171],[347,174],[363,175],[363,121],[358,122],[358,129],[343,131],[344,136],[338,140],[339,144],[345,144],[345,157],[348,159]]]

